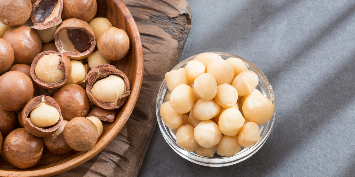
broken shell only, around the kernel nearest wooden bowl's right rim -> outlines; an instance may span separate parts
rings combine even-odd
[[[95,68],[95,67],[94,67]],[[113,110],[121,107],[127,98],[130,96],[131,91],[130,91],[130,81],[128,80],[127,76],[121,72],[119,69],[111,68],[111,67],[102,67],[102,68],[97,68],[94,70],[94,68],[91,70],[92,73],[89,75],[89,78],[87,79],[87,86],[86,86],[86,93],[92,103],[97,105],[100,108],[103,109],[108,109],[108,110]],[[125,94],[117,101],[116,104],[114,103],[103,103],[98,101],[94,95],[91,92],[92,87],[94,86],[95,82],[98,80],[105,78],[109,75],[118,75],[120,76],[124,81],[125,81]]]

